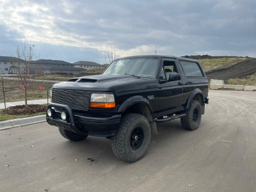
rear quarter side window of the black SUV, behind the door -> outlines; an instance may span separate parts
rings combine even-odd
[[[184,70],[187,77],[204,77],[202,70],[200,69],[198,63],[189,61],[180,61],[180,65]]]

